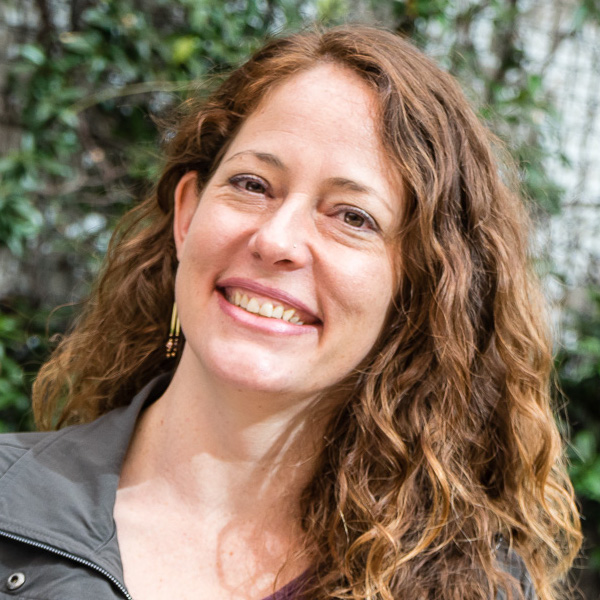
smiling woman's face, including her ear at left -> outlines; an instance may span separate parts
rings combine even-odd
[[[317,66],[267,95],[200,196],[193,173],[180,181],[183,358],[203,376],[308,397],[373,347],[401,200],[374,106],[357,75]]]

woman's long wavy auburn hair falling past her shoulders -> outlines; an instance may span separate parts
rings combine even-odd
[[[164,341],[174,188],[189,171],[202,187],[265,94],[323,62],[374,91],[405,206],[393,310],[301,497],[315,565],[308,596],[517,597],[495,556],[500,534],[538,597],[555,600],[581,535],[527,211],[455,81],[390,32],[344,26],[274,39],[184,103],[158,184],[120,222],[81,317],[39,373],[38,425],[90,421],[173,369]]]

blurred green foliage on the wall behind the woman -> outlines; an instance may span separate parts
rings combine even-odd
[[[410,36],[463,84],[520,166],[544,213],[563,190],[545,168],[552,108],[524,51],[516,0],[5,0],[10,38],[1,91],[18,131],[0,157],[0,430],[29,429],[30,386],[97,272],[115,220],[160,164],[157,128],[211,76],[262,40],[313,21],[361,19]],[[568,35],[600,23],[597,0],[570,4]],[[482,29],[483,28],[483,29]],[[481,32],[484,31],[482,35]],[[551,56],[548,57],[551,59]],[[17,275],[2,278],[13,261]],[[2,283],[3,282],[3,283]],[[572,475],[600,539],[600,292],[569,316],[558,372],[570,399]],[[8,289],[10,288],[10,290]],[[48,331],[46,328],[48,327]],[[92,349],[90,349],[92,351]],[[590,552],[600,571],[600,551]]]

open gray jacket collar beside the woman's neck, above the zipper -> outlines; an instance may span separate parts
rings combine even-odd
[[[156,377],[129,405],[91,423],[18,434],[29,449],[0,476],[0,529],[92,561],[122,580],[113,519],[121,466],[139,413],[170,377]]]

